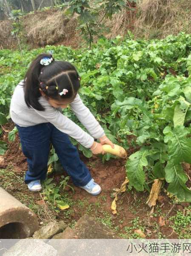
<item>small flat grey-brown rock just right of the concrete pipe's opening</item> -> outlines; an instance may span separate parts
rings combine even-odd
[[[64,221],[49,222],[46,226],[41,227],[34,232],[33,239],[51,239],[53,236],[63,232],[67,227]]]

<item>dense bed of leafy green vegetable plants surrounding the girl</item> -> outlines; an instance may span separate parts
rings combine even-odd
[[[182,163],[191,164],[191,35],[144,41],[134,40],[129,32],[126,38],[100,38],[90,50],[63,45],[23,50],[22,54],[0,50],[1,125],[9,118],[14,87],[32,59],[48,51],[77,67],[83,102],[108,138],[127,150],[128,190],[150,192],[153,181],[159,179],[168,195],[191,202],[190,177],[182,167]],[[70,109],[63,113],[81,126]],[[15,133],[15,129],[9,133],[10,140]],[[92,157],[82,145],[78,148],[85,157]],[[6,143],[1,141],[0,153],[5,151]],[[105,154],[102,161],[111,158],[116,157]],[[55,161],[52,148],[48,165],[56,168]]]

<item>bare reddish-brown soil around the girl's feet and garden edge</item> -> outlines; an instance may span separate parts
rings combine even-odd
[[[21,148],[20,148],[20,140],[18,135],[16,135],[16,139],[14,142],[9,142],[8,140],[8,132],[14,127],[13,123],[9,123],[3,127],[3,134],[0,139],[4,140],[8,144],[8,150],[4,155],[4,162],[0,161],[0,168],[9,168],[12,167],[15,175],[19,177],[24,177],[25,172],[27,170],[27,163],[26,157],[23,155]],[[133,139],[133,137],[128,138],[129,140]],[[132,154],[134,151],[133,148],[128,150],[128,154]],[[93,212],[96,212],[97,216],[100,218],[105,218],[104,212],[107,213],[108,218],[111,218],[114,226],[118,226],[117,232],[125,233],[124,227],[132,226],[130,221],[134,220],[135,218],[139,217],[139,221],[142,226],[145,227],[145,235],[146,238],[156,239],[158,237],[157,234],[157,227],[156,224],[159,224],[160,216],[167,214],[172,207],[171,199],[166,195],[164,191],[161,191],[160,196],[157,200],[157,207],[161,209],[161,213],[159,215],[149,215],[151,209],[145,204],[148,199],[148,192],[136,192],[134,189],[131,191],[127,191],[125,193],[121,193],[118,196],[117,201],[117,215],[112,214],[111,210],[111,203],[114,198],[111,197],[114,189],[120,188],[121,184],[125,180],[125,160],[121,159],[112,159],[102,163],[100,157],[93,156],[90,159],[83,156],[80,153],[80,158],[83,160],[84,163],[88,166],[92,177],[94,180],[99,183],[102,187],[102,192],[99,196],[92,196],[89,195],[83,189],[75,187],[72,185],[71,181],[69,180],[68,185],[73,186],[74,192],[69,188],[66,187],[66,191],[68,195],[74,201],[83,201],[86,198],[88,204],[81,205],[74,205],[71,208],[73,209],[72,214],[69,218],[65,218],[62,212],[57,215],[57,219],[63,219],[64,221],[69,223],[74,223],[77,221],[85,212],[87,212],[88,205],[95,207]],[[185,167],[186,166],[186,167]],[[187,173],[190,174],[190,169],[188,165],[185,165],[184,168],[187,170]],[[53,177],[54,182],[59,183],[62,178],[61,175],[66,175],[63,171],[62,174],[53,173],[48,175],[48,177]],[[23,195],[30,195],[33,192],[30,192],[27,189],[26,184],[23,186],[18,185],[19,188],[11,188],[8,189],[8,192],[11,193],[13,196],[19,190],[20,193]],[[33,193],[34,195],[34,202],[37,205],[43,204],[42,198],[40,197],[40,193]],[[104,200],[103,200],[104,199]],[[101,207],[97,209],[96,204],[100,203]],[[182,203],[178,204],[174,209],[171,211],[169,216],[175,215],[178,210],[183,210],[184,207],[189,206],[189,203]],[[92,214],[92,211],[91,211]],[[39,219],[39,222],[41,220]],[[159,230],[158,230],[159,231]],[[173,229],[168,226],[168,219],[165,221],[165,225],[160,227],[160,232],[163,236],[168,236],[169,239],[177,239],[177,234],[173,232]]]

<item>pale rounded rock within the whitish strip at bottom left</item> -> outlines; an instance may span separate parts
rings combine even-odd
[[[58,256],[57,250],[42,240],[22,239],[12,246],[3,256]]]

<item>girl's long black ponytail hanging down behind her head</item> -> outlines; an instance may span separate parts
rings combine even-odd
[[[40,60],[42,58],[52,58],[51,54],[42,53],[34,59],[31,63],[29,70],[25,76],[25,84],[24,84],[24,93],[25,93],[25,102],[26,105],[30,108],[33,107],[39,111],[43,111],[43,106],[38,102],[39,97],[41,96],[39,90],[39,77],[41,73],[41,69],[44,67],[40,64]]]

